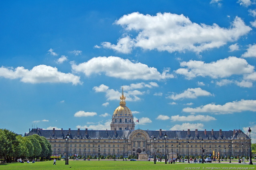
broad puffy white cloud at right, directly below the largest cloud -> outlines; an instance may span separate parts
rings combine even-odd
[[[248,64],[245,59],[232,56],[211,63],[190,60],[189,62],[181,62],[180,66],[187,68],[179,68],[175,72],[186,76],[188,79],[197,76],[224,78],[234,74],[240,75],[254,72],[254,66]]]

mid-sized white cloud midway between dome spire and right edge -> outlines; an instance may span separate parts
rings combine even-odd
[[[212,96],[210,92],[206,90],[202,90],[201,88],[188,88],[183,93],[180,94],[172,94],[166,98],[170,98],[172,100],[179,100],[184,98],[197,98],[198,96]]]

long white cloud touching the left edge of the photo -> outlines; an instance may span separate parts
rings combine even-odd
[[[56,67],[39,65],[32,68],[32,70],[24,67],[0,68],[0,77],[16,79],[20,78],[25,83],[72,83],[74,85],[81,84],[80,77],[71,73],[58,72]]]

